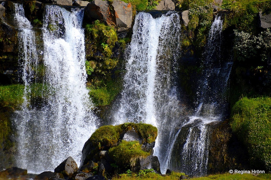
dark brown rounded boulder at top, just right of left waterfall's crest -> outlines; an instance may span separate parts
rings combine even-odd
[[[106,25],[116,25],[113,16],[108,1],[94,0],[88,3],[85,9],[85,17],[89,21],[100,20],[106,23]]]

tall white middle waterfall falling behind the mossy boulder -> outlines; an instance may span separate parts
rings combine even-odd
[[[124,88],[113,117],[113,124],[142,122],[157,127],[154,155],[162,162],[162,172],[168,146],[183,112],[176,85],[180,41],[178,13],[168,12],[157,18],[149,13],[137,13],[130,52],[127,52],[130,56]]]

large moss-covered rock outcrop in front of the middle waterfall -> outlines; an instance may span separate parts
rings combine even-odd
[[[140,170],[141,160],[152,156],[157,128],[150,124],[124,123],[98,128],[85,143],[80,167],[87,163],[101,162],[107,172],[114,168]],[[158,159],[157,159],[158,161]],[[150,164],[155,164],[150,162]],[[160,172],[160,165],[156,168]]]

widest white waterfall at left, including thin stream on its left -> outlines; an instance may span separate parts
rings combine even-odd
[[[22,32],[31,30],[22,6],[19,6],[15,17],[27,22],[20,29]],[[53,170],[68,156],[79,163],[83,145],[96,129],[97,118],[91,112],[93,105],[85,87],[83,12],[82,8],[68,11],[55,5],[45,7],[44,49],[41,50],[45,75],[41,84],[43,92],[39,93],[46,103],[41,103],[39,109],[32,107],[26,98],[31,94],[29,87],[34,76],[29,70],[38,59],[34,53],[37,52],[35,34],[20,35],[23,53],[19,61],[23,64],[22,79],[26,90],[22,110],[14,117],[18,133],[15,159],[17,166],[29,172]]]

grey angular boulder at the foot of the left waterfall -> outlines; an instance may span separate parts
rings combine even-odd
[[[72,174],[77,170],[78,166],[75,160],[70,156],[56,167],[55,172],[62,173],[65,177],[72,177]]]

